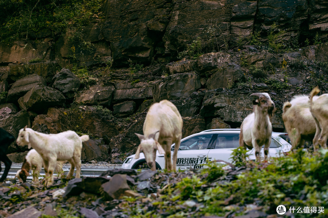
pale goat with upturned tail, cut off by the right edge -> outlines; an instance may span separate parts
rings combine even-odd
[[[310,111],[316,123],[316,135],[313,138],[314,151],[319,149],[318,144],[322,148],[327,148],[328,139],[328,94],[322,94],[314,97],[320,92],[318,86],[310,92]]]

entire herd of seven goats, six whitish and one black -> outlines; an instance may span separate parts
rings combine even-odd
[[[319,145],[327,148],[328,138],[328,94],[316,96],[319,88],[314,88],[310,95],[296,95],[290,102],[283,105],[282,119],[292,143],[292,150],[304,145],[304,140],[312,140],[314,151]],[[253,113],[249,114],[240,126],[239,146],[255,149],[256,161],[260,161],[260,150],[264,145],[264,160],[267,159],[271,143],[272,124],[270,117],[275,108],[274,102],[268,93],[253,93]],[[154,103],[148,110],[143,125],[144,135],[135,133],[140,139],[135,158],[143,152],[148,166],[156,169],[156,151],[164,154],[165,168],[168,171],[176,170],[177,151],[182,137],[182,118],[173,103],[162,100]],[[4,173],[0,179],[3,182],[10,170],[11,161],[6,155],[7,148],[15,140],[14,136],[0,128],[0,160],[5,164]],[[65,131],[58,134],[44,134],[31,128],[19,130],[16,143],[19,146],[28,145],[31,149],[25,157],[22,168],[16,177],[26,182],[30,169],[33,170],[33,182],[38,182],[38,173],[44,167],[45,184],[54,182],[53,172],[59,173],[64,162],[70,162],[71,168],[67,179],[73,176],[76,167],[76,178],[81,172],[82,142],[88,141],[88,135],[78,136],[74,131]],[[171,160],[171,145],[175,149]],[[1,166],[0,166],[1,172]]]

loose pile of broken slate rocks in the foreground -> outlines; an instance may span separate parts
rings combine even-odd
[[[236,175],[245,171],[245,167],[231,166],[227,167],[226,176],[219,182],[234,180]],[[174,187],[183,178],[191,178],[198,173],[199,171],[166,173],[111,169],[98,177],[75,178],[68,183],[57,179],[47,188],[43,185],[18,184],[15,180],[9,180],[0,186],[0,217],[36,218],[41,214],[63,217],[64,214],[70,214],[77,217],[84,215],[86,218],[128,218],[131,217],[132,208],[156,210],[159,217],[167,217],[172,215],[172,211],[156,206],[156,202],[162,201],[162,193],[168,187]],[[214,187],[214,183],[201,189],[205,190],[212,186]],[[229,199],[224,202],[226,206],[229,205]],[[166,204],[172,205],[173,202]],[[176,207],[186,212],[189,217],[198,217],[197,214],[206,205],[187,200],[182,205],[175,205]],[[256,208],[253,205],[252,209]],[[263,212],[257,213],[263,215]]]

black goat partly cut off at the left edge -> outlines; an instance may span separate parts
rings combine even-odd
[[[0,182],[3,182],[6,179],[10,170],[11,160],[7,157],[7,148],[13,141],[15,141],[15,137],[0,127],[0,160],[5,163],[5,171],[1,176]]]

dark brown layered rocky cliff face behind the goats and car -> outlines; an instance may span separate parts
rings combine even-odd
[[[25,125],[87,133],[84,161],[119,163],[134,152],[134,132],[142,133],[153,102],[171,100],[187,136],[239,127],[252,111],[249,94],[269,92],[274,130],[283,131],[284,101],[318,84],[325,90],[328,46],[318,42],[327,39],[327,8],[327,1],[104,1],[105,20],[83,29],[90,49],[69,41],[69,32],[0,45],[0,126],[15,136]],[[113,66],[104,67],[108,59]],[[13,144],[10,158],[22,162],[26,150]]]

